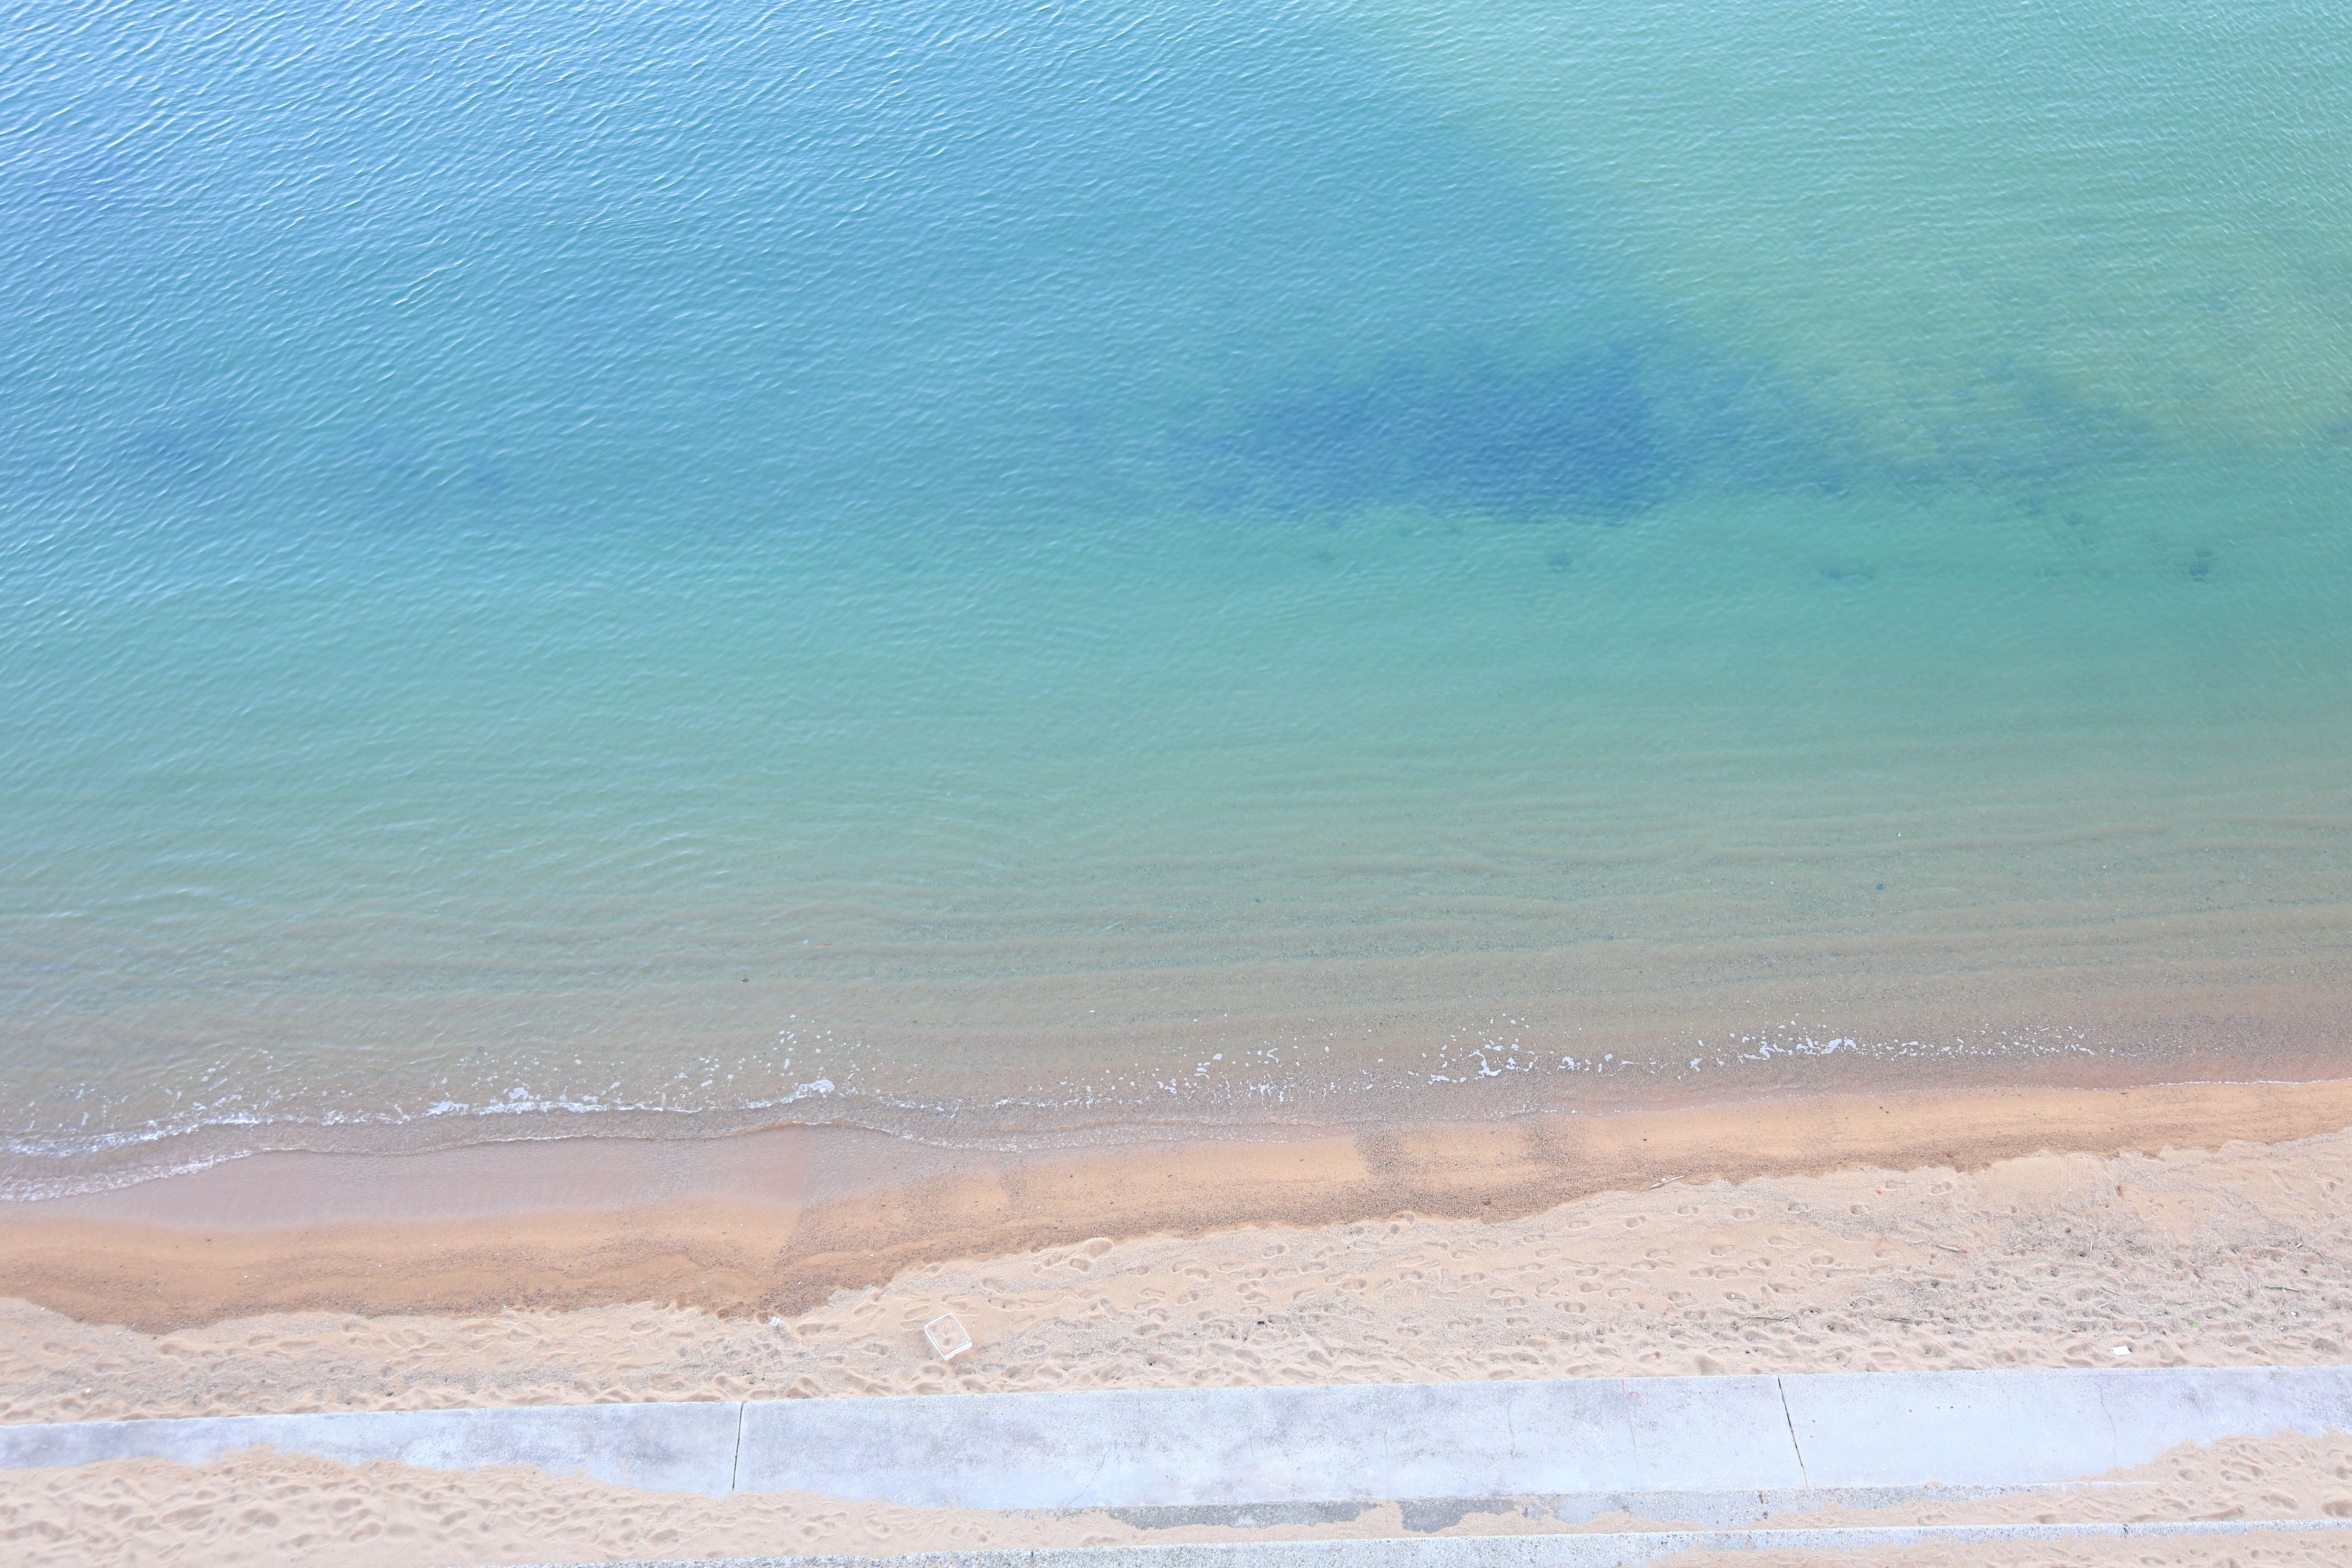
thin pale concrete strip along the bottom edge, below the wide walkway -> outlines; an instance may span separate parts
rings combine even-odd
[[[1994,1523],[1886,1526],[1844,1530],[1628,1530],[1621,1535],[1446,1535],[1439,1540],[1265,1540],[1214,1547],[1056,1547],[1042,1552],[922,1552],[887,1559],[898,1568],[1635,1568],[1677,1552],[1804,1552],[1811,1556],[1867,1547],[2002,1544],[2070,1540],[2211,1540],[2307,1542],[2314,1535],[2352,1544],[2352,1519],[2227,1519],[2192,1523]],[[1820,1561],[1835,1561],[1823,1556]],[[597,1563],[595,1568],[873,1568],[870,1556],[731,1556]],[[532,1568],[590,1568],[534,1563]]]

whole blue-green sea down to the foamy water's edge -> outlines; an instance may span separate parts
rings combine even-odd
[[[0,38],[7,1192],[2340,1065],[2343,7]]]

